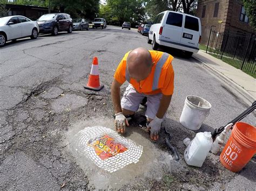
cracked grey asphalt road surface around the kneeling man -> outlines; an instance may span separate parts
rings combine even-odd
[[[146,39],[135,30],[109,26],[104,30],[63,32],[56,37],[43,35],[36,40],[26,38],[0,49],[0,189],[255,189],[255,158],[239,173],[225,169],[213,154],[201,168],[185,164],[183,139],[196,135],[179,124],[187,95],[203,97],[212,104],[200,131],[227,124],[248,105],[197,60],[173,49],[159,49],[175,58],[175,89],[164,125],[172,132],[172,144],[181,160],[161,162],[161,155],[170,155],[163,143],[164,131],[158,143],[150,143],[148,135],[131,136],[138,144],[142,140],[145,153],[159,151],[159,156],[142,161],[143,168],[139,162],[137,169],[129,171],[127,166],[118,178],[122,184],[117,186],[111,183],[114,173],[106,175],[95,166],[89,168],[81,162],[85,158],[77,160],[70,137],[85,125],[112,128],[110,86],[114,70],[127,51],[151,49]],[[93,56],[98,57],[100,82],[105,86],[98,93],[83,87]],[[244,121],[255,125],[255,116],[249,115]],[[150,144],[152,149],[147,149]],[[92,176],[92,171],[98,175]],[[125,172],[134,176],[126,177]]]

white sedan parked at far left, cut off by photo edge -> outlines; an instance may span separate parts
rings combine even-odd
[[[0,18],[0,47],[6,41],[18,38],[30,37],[36,39],[39,27],[36,21],[32,21],[24,16],[9,16]]]

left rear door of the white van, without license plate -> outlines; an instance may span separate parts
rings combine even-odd
[[[166,20],[163,20],[163,32],[160,41],[165,43],[180,43],[182,34],[183,14],[169,12]]]

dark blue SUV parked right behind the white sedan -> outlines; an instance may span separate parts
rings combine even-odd
[[[57,35],[59,31],[72,32],[73,23],[70,15],[66,13],[50,13],[37,19],[40,33],[52,33]]]

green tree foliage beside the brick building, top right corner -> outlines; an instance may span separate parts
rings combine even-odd
[[[251,26],[256,30],[256,1],[242,0],[242,3],[244,3],[246,15],[249,17]]]

